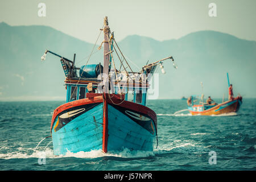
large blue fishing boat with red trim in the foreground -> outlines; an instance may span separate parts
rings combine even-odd
[[[74,59],[69,60],[55,52],[47,53],[60,57],[67,89],[66,103],[57,107],[52,115],[51,136],[55,155],[69,152],[102,150],[152,151],[158,144],[158,123],[153,110],[146,107],[149,80],[156,67],[163,71],[166,57],[144,65],[133,72],[125,56],[115,42],[113,32],[104,19],[104,64],[87,64],[77,68]],[[115,67],[113,52],[121,63]],[[131,71],[127,71],[127,64]],[[112,66],[114,67],[112,69]]]

